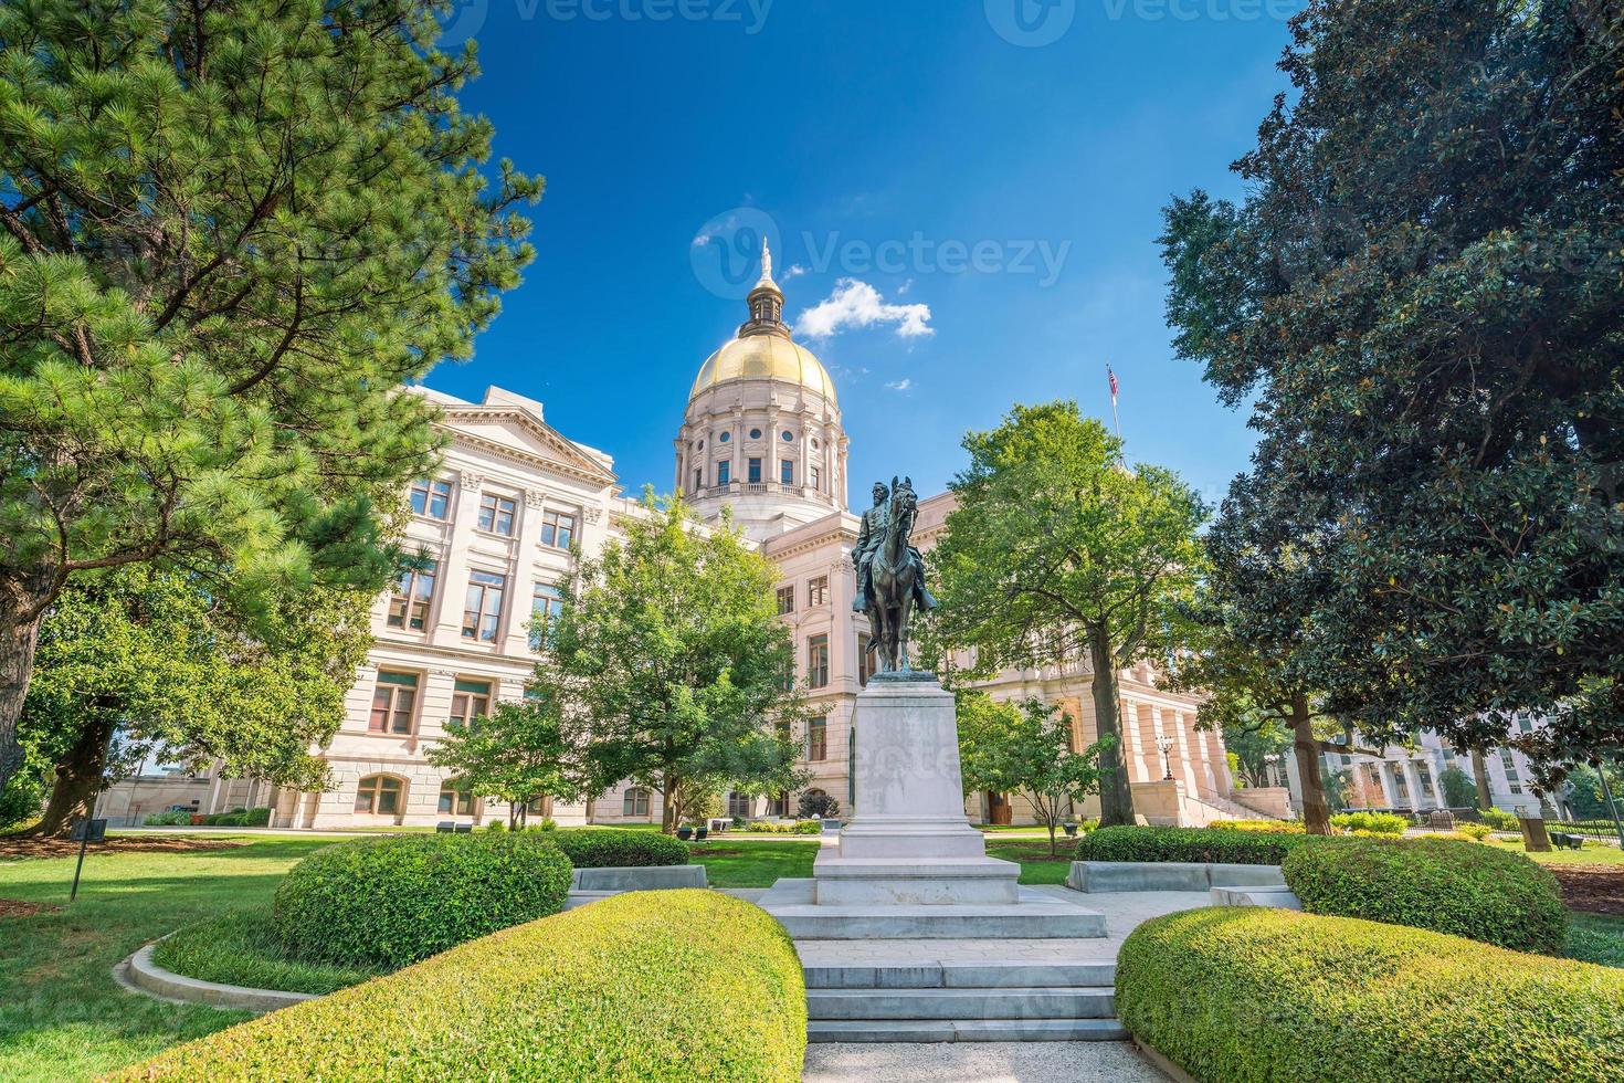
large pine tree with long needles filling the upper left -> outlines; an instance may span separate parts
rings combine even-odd
[[[400,385],[471,354],[539,193],[481,169],[437,11],[0,6],[0,787],[80,576],[383,581],[380,516],[437,443]]]

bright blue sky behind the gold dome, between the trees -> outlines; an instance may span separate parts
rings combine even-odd
[[[1013,403],[1109,419],[1109,362],[1129,458],[1213,500],[1252,438],[1171,354],[1160,208],[1241,193],[1228,164],[1285,89],[1296,6],[466,0],[450,32],[474,31],[484,76],[464,106],[547,193],[525,284],[427,383],[538,398],[628,492],[667,490],[767,229],[786,318],[840,390],[851,494],[892,472],[937,492],[963,432]]]

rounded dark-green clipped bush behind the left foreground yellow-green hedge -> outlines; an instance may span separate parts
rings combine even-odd
[[[570,861],[539,835],[393,835],[326,846],[276,888],[276,934],[302,958],[403,966],[557,914]]]

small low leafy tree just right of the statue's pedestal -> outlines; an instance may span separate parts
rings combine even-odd
[[[961,692],[957,700],[965,792],[1026,794],[1054,856],[1060,822],[1099,792],[1099,757],[1109,739],[1077,750],[1070,716],[1038,698],[994,703],[986,693]]]

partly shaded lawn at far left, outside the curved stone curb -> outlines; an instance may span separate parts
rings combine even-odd
[[[268,906],[294,862],[333,843],[234,838],[252,844],[125,854],[93,848],[71,906],[71,857],[0,861],[0,898],[54,908],[0,917],[0,1080],[83,1080],[248,1018],[132,995],[112,979],[112,966],[149,940],[227,908]]]

